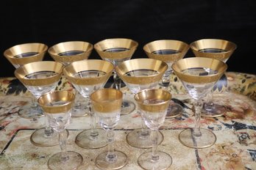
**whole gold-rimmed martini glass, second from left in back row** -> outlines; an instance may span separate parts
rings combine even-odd
[[[56,61],[64,65],[71,62],[88,59],[93,51],[93,45],[83,41],[68,41],[60,42],[49,48],[48,53]],[[89,111],[85,109],[85,104],[82,103],[81,95],[75,90],[76,98],[73,106],[72,117],[84,117]]]

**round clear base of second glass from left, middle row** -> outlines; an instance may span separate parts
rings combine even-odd
[[[85,149],[98,149],[107,145],[106,131],[103,129],[96,129],[98,136],[90,136],[91,130],[83,130],[76,137],[76,144]]]

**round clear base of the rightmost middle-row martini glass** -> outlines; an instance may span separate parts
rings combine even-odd
[[[185,129],[179,133],[179,141],[186,147],[206,148],[211,147],[216,142],[216,135],[207,129],[200,128],[202,136],[193,136],[193,129]]]

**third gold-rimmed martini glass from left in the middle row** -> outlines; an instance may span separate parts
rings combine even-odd
[[[130,59],[115,67],[116,72],[135,95],[143,89],[157,89],[158,82],[166,72],[168,65],[157,59]],[[127,143],[132,147],[150,148],[150,130],[141,119],[142,128],[127,134]],[[158,144],[163,141],[163,134],[158,134]]]

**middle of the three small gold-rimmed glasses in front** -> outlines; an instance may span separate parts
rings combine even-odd
[[[118,125],[123,94],[117,89],[99,89],[90,95],[93,111],[99,117],[99,124],[106,130],[108,149],[96,157],[95,164],[100,169],[121,169],[128,163],[124,152],[114,149],[115,133]]]

